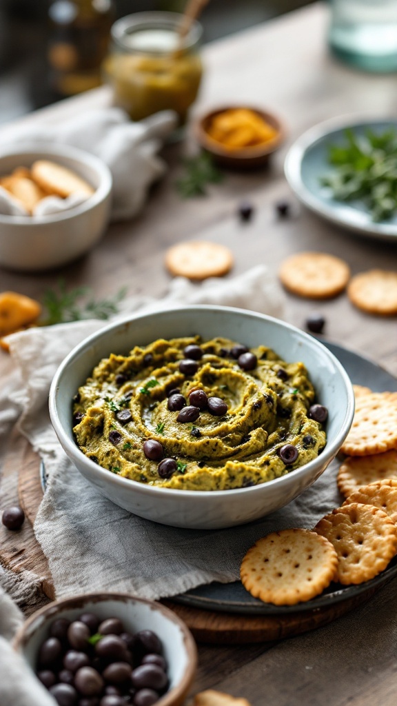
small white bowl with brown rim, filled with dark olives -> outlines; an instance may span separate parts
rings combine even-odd
[[[28,618],[14,647],[59,706],[179,706],[197,662],[177,615],[124,593],[50,603]]]

